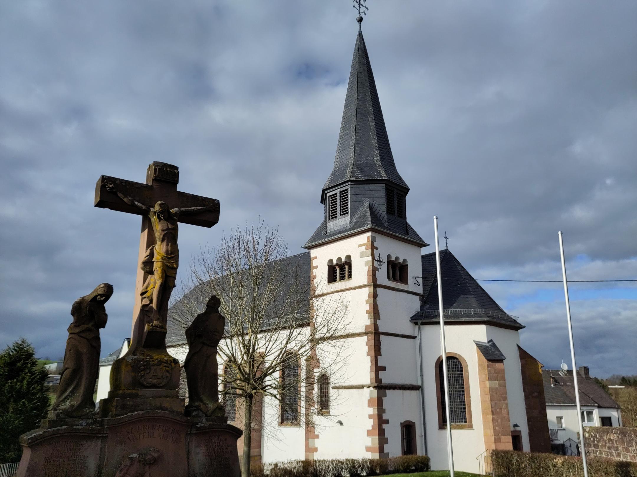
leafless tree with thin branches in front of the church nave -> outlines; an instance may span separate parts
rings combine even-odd
[[[255,403],[273,401],[280,422],[301,424],[303,415],[304,424],[313,426],[314,377],[337,377],[346,359],[341,338],[347,306],[338,294],[318,293],[315,273],[302,257],[288,256],[278,232],[263,223],[236,228],[218,247],[197,255],[183,286],[188,291],[178,293],[171,307],[171,321],[185,329],[212,294],[222,301],[222,393],[225,404],[237,401],[243,414],[243,477],[250,476]]]

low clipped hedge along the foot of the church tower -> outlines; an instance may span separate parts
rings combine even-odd
[[[252,477],[361,477],[428,470],[429,457],[426,455],[402,455],[389,459],[287,460],[250,466]]]

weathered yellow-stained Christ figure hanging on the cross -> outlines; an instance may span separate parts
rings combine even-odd
[[[170,209],[166,202],[159,200],[154,207],[149,207],[116,190],[112,183],[104,183],[104,187],[108,191],[117,193],[126,204],[141,209],[150,218],[155,233],[155,245],[148,247],[146,256],[140,264],[140,268],[148,273],[146,282],[141,289],[142,308],[150,312],[149,320],[152,326],[166,329],[168,301],[175,287],[179,266],[178,218],[180,215],[209,211],[214,206]]]

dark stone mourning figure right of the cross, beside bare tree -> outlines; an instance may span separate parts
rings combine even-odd
[[[225,317],[219,313],[221,300],[213,295],[206,310],[197,315],[188,329],[188,354],[183,367],[188,384],[187,414],[223,414],[217,384],[217,346],[224,336]]]

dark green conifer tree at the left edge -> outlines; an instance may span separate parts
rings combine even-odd
[[[24,338],[0,354],[0,464],[20,460],[20,434],[36,429],[47,416],[46,380],[47,371]]]

